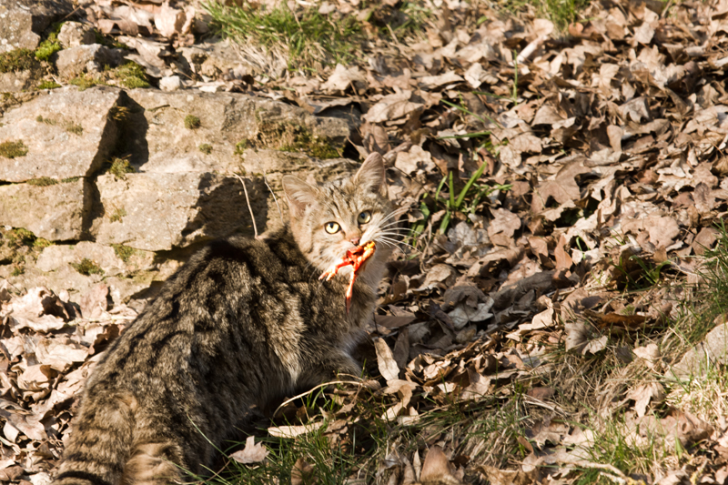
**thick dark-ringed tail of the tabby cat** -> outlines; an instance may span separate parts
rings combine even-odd
[[[136,399],[106,390],[84,400],[53,485],[119,485],[132,448]]]

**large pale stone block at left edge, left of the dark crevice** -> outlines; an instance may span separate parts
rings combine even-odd
[[[87,177],[98,170],[116,144],[116,125],[109,111],[119,90],[96,86],[54,89],[5,114],[0,143],[22,141],[25,157],[0,156],[0,180]]]

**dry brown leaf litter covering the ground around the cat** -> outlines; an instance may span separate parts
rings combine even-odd
[[[725,483],[725,406],[669,404],[675,385],[662,376],[678,356],[659,338],[728,207],[728,4],[592,3],[566,33],[529,5],[412,5],[428,15],[397,30],[392,18],[411,15],[396,2],[316,4],[332,19],[367,13],[348,66],[297,71],[276,48],[230,43],[242,64],[225,72],[185,55],[208,48],[204,5],[83,5],[153,82],[177,72],[180,54],[194,58],[183,87],[354,113],[350,147],[385,158],[389,196],[410,209],[410,246],[390,263],[360,349],[374,379],[288,402],[262,436],[322,433],[357,453],[355,430],[383,427],[349,477],[366,482],[426,480],[432,468],[468,482],[567,483],[591,470]],[[136,311],[111,304],[103,284],[72,297],[2,282],[0,303],[0,480],[37,485],[84,380]],[[613,369],[590,376],[600,361]],[[601,454],[611,440],[668,458],[612,464]],[[230,458],[265,466],[269,451],[251,436]],[[300,457],[290,480],[315,477]]]

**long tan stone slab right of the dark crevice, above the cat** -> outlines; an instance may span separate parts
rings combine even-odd
[[[241,94],[135,89],[128,96],[132,113],[123,149],[142,172],[233,172],[240,165],[238,144],[250,147],[248,141],[254,141],[258,148],[278,148],[280,132],[287,129],[305,130],[338,146],[349,136],[344,120]],[[186,116],[197,116],[200,126],[187,128]],[[200,150],[203,144],[211,147],[208,153]]]

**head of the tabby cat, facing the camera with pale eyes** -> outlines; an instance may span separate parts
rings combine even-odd
[[[383,268],[390,254],[394,217],[387,198],[384,161],[371,154],[353,176],[313,187],[294,176],[283,177],[290,227],[298,248],[321,271],[349,249],[377,242],[363,274]],[[350,268],[342,268],[348,273]],[[376,284],[376,283],[375,283]]]

